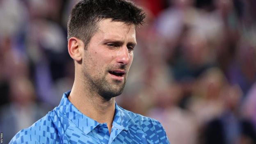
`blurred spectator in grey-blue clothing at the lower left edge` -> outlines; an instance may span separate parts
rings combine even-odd
[[[10,104],[1,107],[0,130],[9,142],[19,130],[27,128],[46,114],[46,107],[37,105],[32,82],[16,77],[10,82]]]

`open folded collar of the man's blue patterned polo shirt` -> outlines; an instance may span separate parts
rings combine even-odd
[[[82,114],[68,99],[71,91],[63,94],[59,106],[56,107],[59,112],[64,114],[70,121],[72,121],[80,130],[88,134],[91,130],[96,128],[100,123]],[[133,121],[124,110],[115,103],[114,121],[112,127],[119,130],[128,130],[130,121]]]

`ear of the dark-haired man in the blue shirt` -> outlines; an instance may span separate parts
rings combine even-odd
[[[85,47],[84,43],[80,39],[76,37],[69,38],[69,41],[68,41],[69,55],[75,61],[82,60],[82,53],[83,53],[84,47]]]

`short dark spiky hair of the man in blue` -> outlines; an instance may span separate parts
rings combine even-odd
[[[126,24],[142,25],[146,14],[128,0],[81,0],[73,7],[68,22],[68,39],[77,37],[85,46],[104,18]]]

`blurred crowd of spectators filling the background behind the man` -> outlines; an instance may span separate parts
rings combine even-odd
[[[71,89],[66,23],[78,0],[0,0],[4,143]],[[256,1],[135,0],[145,25],[121,107],[162,123],[171,144],[256,144]]]

